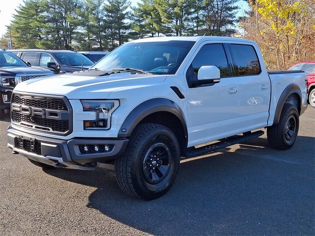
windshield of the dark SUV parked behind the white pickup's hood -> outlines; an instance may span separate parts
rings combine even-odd
[[[92,60],[80,53],[54,53],[54,55],[63,65],[82,65],[82,60],[83,65],[91,66],[94,64]]]

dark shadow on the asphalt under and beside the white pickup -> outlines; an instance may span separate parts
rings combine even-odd
[[[170,191],[150,202],[121,192],[112,171],[46,173],[96,187],[87,207],[153,235],[312,235],[314,141],[299,136],[279,151],[258,138],[184,160]]]

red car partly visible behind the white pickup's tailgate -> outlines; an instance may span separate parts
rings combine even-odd
[[[309,103],[312,107],[315,108],[315,61],[305,61],[300,62],[292,67],[289,70],[304,70],[307,74],[307,85],[309,91]]]

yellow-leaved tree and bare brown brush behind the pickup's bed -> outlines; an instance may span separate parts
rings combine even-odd
[[[286,69],[315,59],[314,0],[250,0],[252,10],[242,19],[246,38],[257,41],[272,69]],[[310,37],[313,34],[313,37]]]

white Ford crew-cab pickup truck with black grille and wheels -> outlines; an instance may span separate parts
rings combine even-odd
[[[258,137],[261,128],[270,146],[291,148],[307,107],[305,80],[303,71],[267,71],[245,39],[139,39],[88,71],[18,84],[8,147],[42,168],[114,165],[124,192],[152,200],[171,187],[181,157]]]

